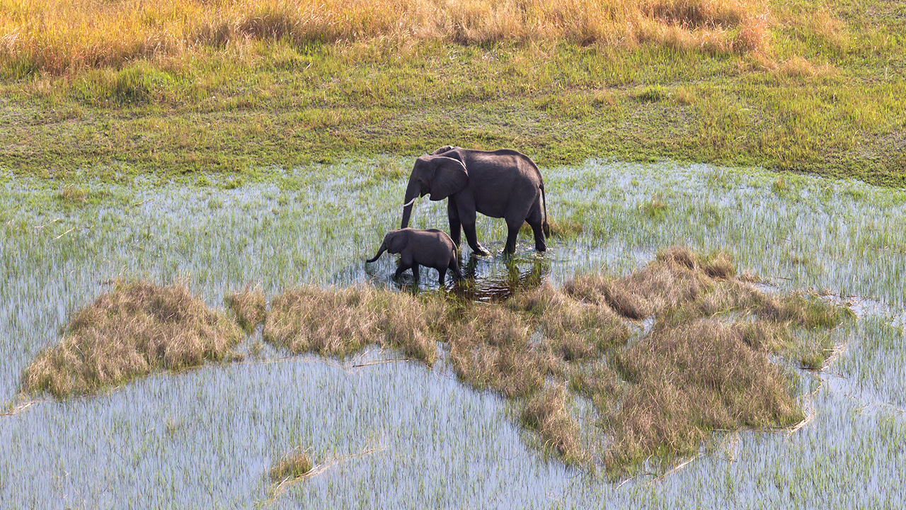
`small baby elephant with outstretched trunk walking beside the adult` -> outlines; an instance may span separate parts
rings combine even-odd
[[[453,240],[443,232],[437,229],[417,230],[417,229],[400,229],[390,230],[384,236],[381,243],[381,250],[373,259],[365,260],[373,262],[378,260],[384,251],[400,254],[400,267],[397,268],[396,277],[400,278],[402,271],[412,268],[412,276],[419,279],[419,265],[434,268],[440,273],[440,286],[444,286],[444,278],[447,276],[447,270],[453,271],[456,280],[462,280],[462,272],[459,270],[459,259],[457,257],[456,245]]]

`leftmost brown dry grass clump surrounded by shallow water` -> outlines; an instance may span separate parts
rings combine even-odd
[[[23,387],[59,398],[91,393],[160,369],[231,358],[241,336],[184,283],[118,281],[75,314],[59,345],[25,368]]]

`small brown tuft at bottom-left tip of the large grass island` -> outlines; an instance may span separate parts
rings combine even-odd
[[[568,464],[580,464],[583,451],[579,442],[579,426],[566,408],[564,388],[548,388],[529,397],[522,407],[519,420],[535,430],[545,446],[556,450]]]

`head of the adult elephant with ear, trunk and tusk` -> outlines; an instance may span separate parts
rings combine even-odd
[[[409,185],[406,186],[406,199],[402,206],[402,224],[409,226],[412,204],[415,199],[429,194],[432,201],[441,201],[448,196],[462,191],[468,183],[466,165],[454,158],[425,154],[415,160]]]

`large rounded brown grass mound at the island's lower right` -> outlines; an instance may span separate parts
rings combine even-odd
[[[655,329],[617,355],[631,388],[609,422],[610,466],[698,450],[709,430],[785,426],[802,419],[780,368],[716,319]]]

